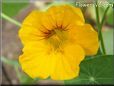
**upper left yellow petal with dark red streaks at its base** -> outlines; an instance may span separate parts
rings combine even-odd
[[[22,39],[22,43],[25,45],[28,42],[43,39],[45,37],[44,33],[54,28],[53,23],[47,12],[32,11],[25,18],[19,30],[19,37]]]

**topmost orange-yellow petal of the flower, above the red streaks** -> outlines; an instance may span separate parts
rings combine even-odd
[[[47,12],[58,27],[66,27],[72,22],[76,22],[78,25],[84,24],[81,10],[70,5],[52,6]]]

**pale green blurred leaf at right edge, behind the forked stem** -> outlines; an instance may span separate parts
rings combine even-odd
[[[114,55],[113,51],[113,29],[103,32],[103,39],[106,48],[106,53],[109,55]]]

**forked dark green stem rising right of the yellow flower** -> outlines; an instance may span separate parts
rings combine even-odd
[[[96,11],[96,20],[97,20],[97,26],[98,26],[99,41],[100,41],[100,44],[101,44],[101,48],[102,48],[103,54],[106,54],[106,50],[105,50],[105,46],[104,46],[104,41],[103,41],[103,36],[102,36],[102,31],[101,30],[102,30],[102,25],[103,25],[103,22],[104,22],[104,17],[106,15],[108,9],[106,9],[101,23],[100,23],[100,19],[99,19],[98,6],[95,7],[95,11]]]

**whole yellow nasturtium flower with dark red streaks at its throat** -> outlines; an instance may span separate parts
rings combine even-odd
[[[24,45],[19,62],[32,78],[73,79],[84,57],[95,55],[99,47],[97,32],[85,24],[81,10],[70,5],[31,12],[19,37]]]

